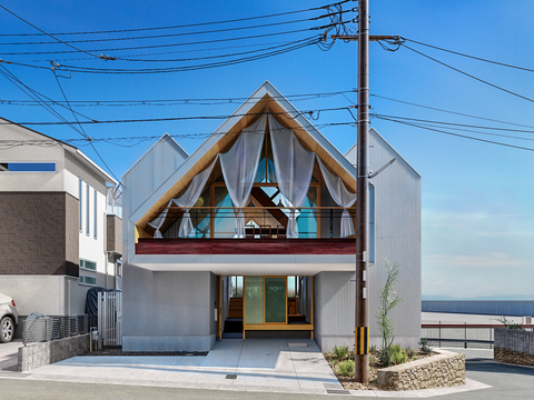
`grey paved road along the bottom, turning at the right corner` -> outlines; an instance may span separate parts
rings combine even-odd
[[[495,363],[492,350],[466,350],[466,377],[492,386],[487,389],[463,393],[444,394],[438,399],[453,400],[493,400],[532,399],[534,393],[534,368],[524,368]],[[4,373],[2,378],[7,376]],[[360,399],[376,399],[374,393],[358,393]],[[370,394],[370,396],[368,396]],[[385,394],[385,393],[384,393]],[[422,392],[396,392],[392,397],[421,398]],[[332,394],[327,394],[330,397]],[[383,396],[379,396],[383,397]],[[92,384],[58,381],[32,381],[21,379],[0,379],[1,399],[325,399],[324,394],[288,394],[269,392],[244,392],[235,390],[200,390],[182,388],[151,388],[119,384]]]

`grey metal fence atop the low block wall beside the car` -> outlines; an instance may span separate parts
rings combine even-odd
[[[52,341],[89,333],[97,327],[97,316],[79,314],[72,317],[42,317],[24,320],[22,343]]]

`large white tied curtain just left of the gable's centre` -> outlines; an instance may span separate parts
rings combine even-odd
[[[226,153],[219,154],[226,188],[234,207],[246,207],[253,190],[265,138],[267,114],[245,128]],[[236,237],[245,238],[245,214],[237,212]]]

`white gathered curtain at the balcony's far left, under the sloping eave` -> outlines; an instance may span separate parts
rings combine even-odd
[[[191,238],[195,237],[195,227],[192,226],[191,216],[189,214],[189,208],[195,206],[200,194],[202,194],[204,187],[208,181],[209,176],[217,162],[217,158],[215,158],[214,162],[205,169],[202,172],[198,173],[192,178],[191,183],[187,188],[186,192],[179,197],[178,199],[171,199],[167,207],[172,206],[175,203],[178,207],[187,207],[186,212],[184,213],[184,218],[181,219],[180,230],[178,232],[179,238]],[[156,218],[152,222],[149,223],[150,227],[156,228],[156,233],[154,233],[155,238],[161,239],[162,234],[160,231],[161,226],[164,224],[169,209],[165,209],[161,214]]]

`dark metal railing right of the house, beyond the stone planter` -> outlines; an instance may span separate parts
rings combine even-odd
[[[523,324],[523,329],[533,330],[532,324]],[[421,337],[434,347],[461,347],[464,349],[493,349],[494,329],[504,328],[500,323],[422,323]]]

